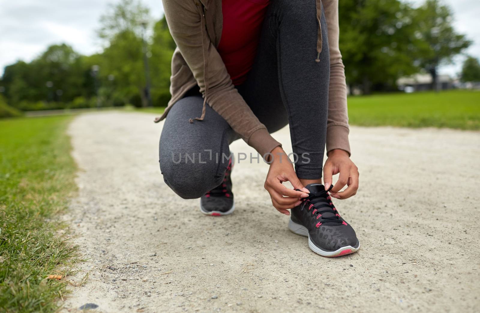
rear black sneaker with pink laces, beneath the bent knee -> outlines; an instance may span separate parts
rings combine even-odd
[[[233,156],[228,161],[227,171],[222,183],[200,198],[200,211],[211,216],[228,215],[235,210],[232,180]]]

